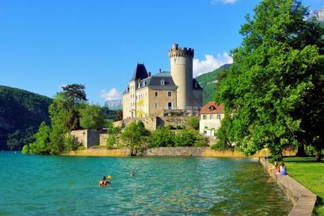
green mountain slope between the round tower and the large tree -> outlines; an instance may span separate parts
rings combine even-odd
[[[230,68],[230,64],[225,64],[220,68],[213,70],[211,72],[206,72],[203,75],[196,77],[199,85],[204,89],[203,91],[203,104],[206,104],[208,101],[213,101],[213,95],[216,91],[216,80],[217,75],[224,70]]]

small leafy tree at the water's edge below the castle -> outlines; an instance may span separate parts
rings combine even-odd
[[[139,151],[144,150],[144,143],[147,141],[149,131],[145,129],[142,121],[132,122],[125,127],[121,135],[122,146],[130,150],[130,155],[137,155]]]

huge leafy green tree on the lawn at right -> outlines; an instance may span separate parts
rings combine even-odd
[[[323,28],[306,15],[301,1],[265,0],[240,30],[216,102],[236,113],[230,134],[246,155],[265,146],[276,157],[286,145],[323,148]]]

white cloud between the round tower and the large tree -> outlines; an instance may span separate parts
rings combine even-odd
[[[233,63],[233,58],[227,52],[218,53],[216,57],[206,54],[205,59],[199,60],[194,58],[194,77],[197,77],[205,72],[211,72],[221,65]]]

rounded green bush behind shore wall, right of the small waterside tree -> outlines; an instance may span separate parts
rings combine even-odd
[[[149,136],[149,147],[172,147],[175,146],[175,134],[170,132],[169,127],[158,127]]]

